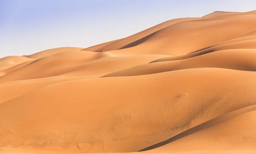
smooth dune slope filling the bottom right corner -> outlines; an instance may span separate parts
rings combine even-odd
[[[198,154],[214,154],[229,149],[234,153],[255,153],[255,109],[256,106],[249,106],[202,123],[166,140],[166,143],[156,144],[155,147],[158,146],[158,148],[150,147],[154,148],[150,152],[189,153],[189,151],[196,151]]]

